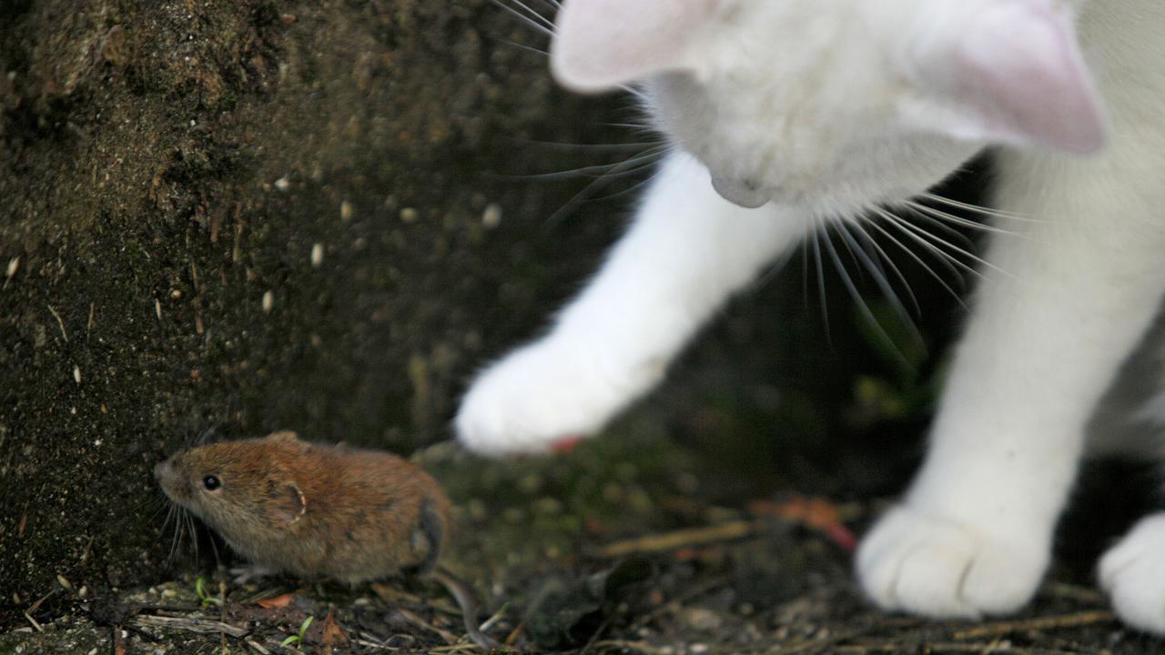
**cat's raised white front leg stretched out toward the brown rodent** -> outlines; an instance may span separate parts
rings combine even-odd
[[[651,389],[700,325],[807,223],[771,205],[733,205],[693,159],[671,156],[631,228],[550,332],[469,387],[458,437],[500,455],[596,431]]]

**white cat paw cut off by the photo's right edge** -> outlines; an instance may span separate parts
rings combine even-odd
[[[1165,634],[1165,514],[1142,519],[1101,557],[1100,584],[1121,620]]]

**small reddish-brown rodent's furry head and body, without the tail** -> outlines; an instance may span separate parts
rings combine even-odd
[[[348,584],[435,564],[449,499],[387,452],[294,432],[179,452],[154,474],[165,494],[255,566]]]

